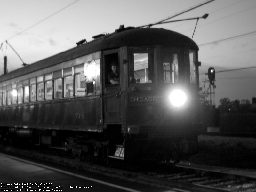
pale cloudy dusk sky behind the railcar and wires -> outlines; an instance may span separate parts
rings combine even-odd
[[[120,25],[138,27],[177,15],[206,0],[0,0],[0,75],[4,56],[8,72],[24,63],[55,55],[76,42],[101,33],[112,33]],[[256,1],[215,0],[171,20],[207,19],[153,26],[179,32],[199,46],[200,86],[208,89],[209,67],[216,71],[214,104],[256,97]],[[247,34],[247,35],[246,35]],[[236,38],[232,38],[236,37]],[[13,47],[6,44],[7,42]],[[223,41],[221,41],[223,40]],[[248,68],[255,67],[255,68]],[[241,69],[248,68],[248,69]],[[241,69],[227,72],[223,70]],[[213,98],[213,96],[212,96]]]

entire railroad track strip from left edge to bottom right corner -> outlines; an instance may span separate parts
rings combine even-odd
[[[3,151],[3,148],[1,148],[1,151]],[[29,158],[33,157],[34,159],[44,159],[44,161],[52,163],[102,173],[109,177],[118,177],[152,186],[165,187],[174,191],[256,192],[256,177],[245,175],[211,171],[202,168],[191,168],[184,165],[156,166],[154,169],[152,167],[144,167],[143,170],[140,167],[113,169],[28,150],[19,149],[16,151],[9,148],[8,151],[12,154],[18,151],[19,156],[23,155]]]

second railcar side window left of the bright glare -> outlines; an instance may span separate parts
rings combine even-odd
[[[73,72],[72,67],[63,69],[64,77],[64,97],[73,96]]]

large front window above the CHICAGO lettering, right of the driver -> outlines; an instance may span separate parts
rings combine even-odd
[[[154,53],[146,50],[131,51],[132,63],[130,66],[130,83],[154,83]]]

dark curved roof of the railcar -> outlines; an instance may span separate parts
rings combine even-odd
[[[191,49],[198,50],[198,46],[193,40],[174,31],[163,28],[128,27],[124,29],[117,29],[114,33],[100,36],[88,43],[37,61],[23,68],[11,71],[0,76],[0,81],[25,75],[100,50],[114,49],[122,46],[152,45],[190,47]]]

